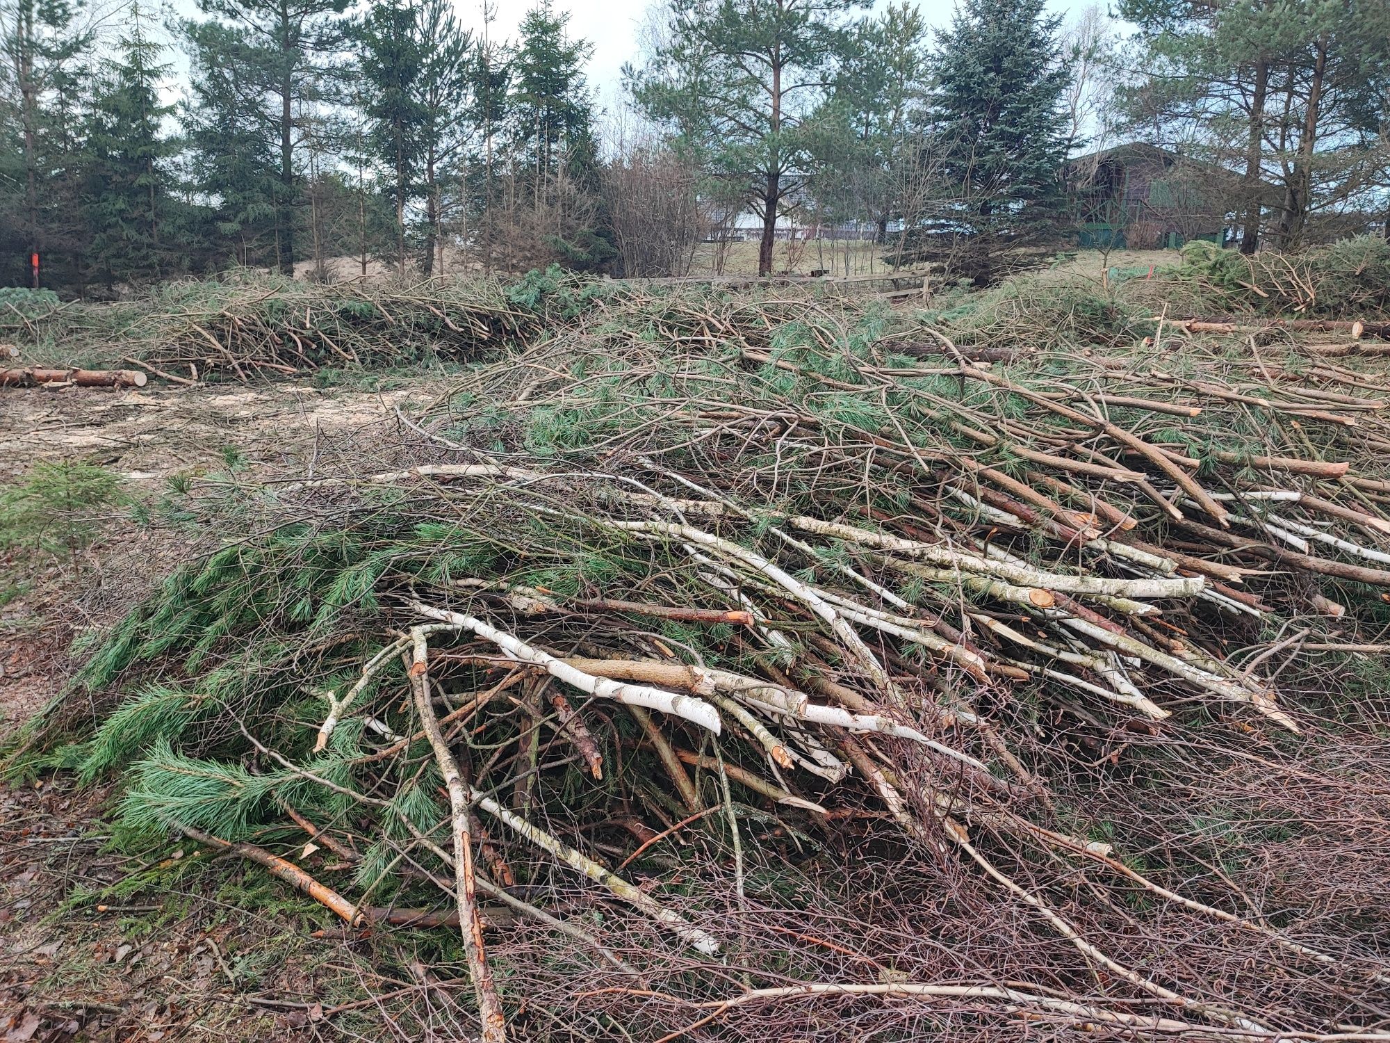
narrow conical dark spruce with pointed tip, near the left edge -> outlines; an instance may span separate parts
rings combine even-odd
[[[170,175],[164,160],[178,143],[164,136],[158,81],[168,65],[132,4],[120,57],[104,63],[86,125],[83,217],[90,227],[89,261],[107,285],[168,274],[163,228]],[[161,232],[164,242],[161,242]]]

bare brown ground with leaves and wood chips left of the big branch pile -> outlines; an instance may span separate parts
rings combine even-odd
[[[311,459],[320,438],[377,428],[396,406],[438,391],[423,382],[381,392],[7,389],[0,485],[58,459],[99,463],[138,495],[231,460],[284,471]],[[0,556],[0,580],[24,584],[0,608],[0,747],[63,691],[71,640],[118,619],[189,552],[181,540],[113,517],[81,579],[70,563],[21,567]],[[348,1039],[360,1037],[356,1029],[379,1037],[375,1026],[395,1021],[386,1007],[356,1003],[366,987],[403,996],[424,987],[409,975],[382,978],[382,961],[361,948],[375,943],[310,939],[331,926],[321,909],[257,871],[232,871],[238,880],[228,886],[222,866],[210,887],[202,866],[213,858],[188,843],[153,859],[113,850],[107,800],[100,790],[78,793],[70,776],[0,783],[0,1043]]]

